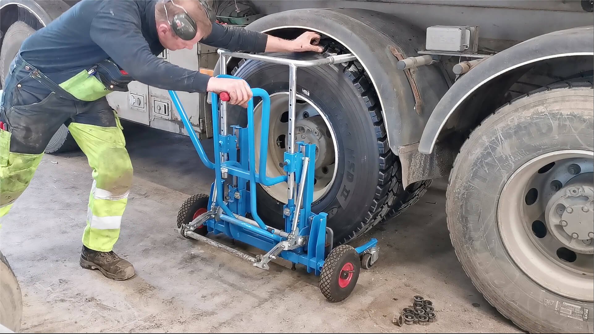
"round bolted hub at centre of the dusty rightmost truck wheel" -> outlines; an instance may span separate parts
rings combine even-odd
[[[594,187],[587,182],[592,173],[576,176],[558,190],[546,205],[549,230],[569,249],[593,254]]]

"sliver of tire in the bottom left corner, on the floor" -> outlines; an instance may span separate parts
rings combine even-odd
[[[17,333],[21,329],[23,299],[17,277],[8,260],[0,252],[0,323]]]

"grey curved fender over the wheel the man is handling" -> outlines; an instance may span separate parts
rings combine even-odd
[[[294,9],[266,15],[245,28],[263,33],[301,28],[345,46],[361,62],[377,91],[394,154],[400,145],[419,141],[420,129],[447,91],[447,82],[437,66],[421,66],[412,74],[413,93],[406,73],[396,69],[399,59],[391,47],[404,58],[418,56],[416,50],[424,45],[425,33],[392,15],[356,8]],[[218,72],[219,63],[215,75]]]

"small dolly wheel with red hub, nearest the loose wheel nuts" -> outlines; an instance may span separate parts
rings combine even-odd
[[[349,245],[335,247],[324,262],[320,273],[320,290],[324,297],[333,302],[345,300],[353,291],[359,279],[361,259]]]

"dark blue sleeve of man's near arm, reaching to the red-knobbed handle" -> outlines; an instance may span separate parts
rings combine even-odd
[[[206,93],[210,75],[181,68],[153,55],[140,30],[134,2],[106,1],[90,25],[91,40],[132,78],[165,90]]]

